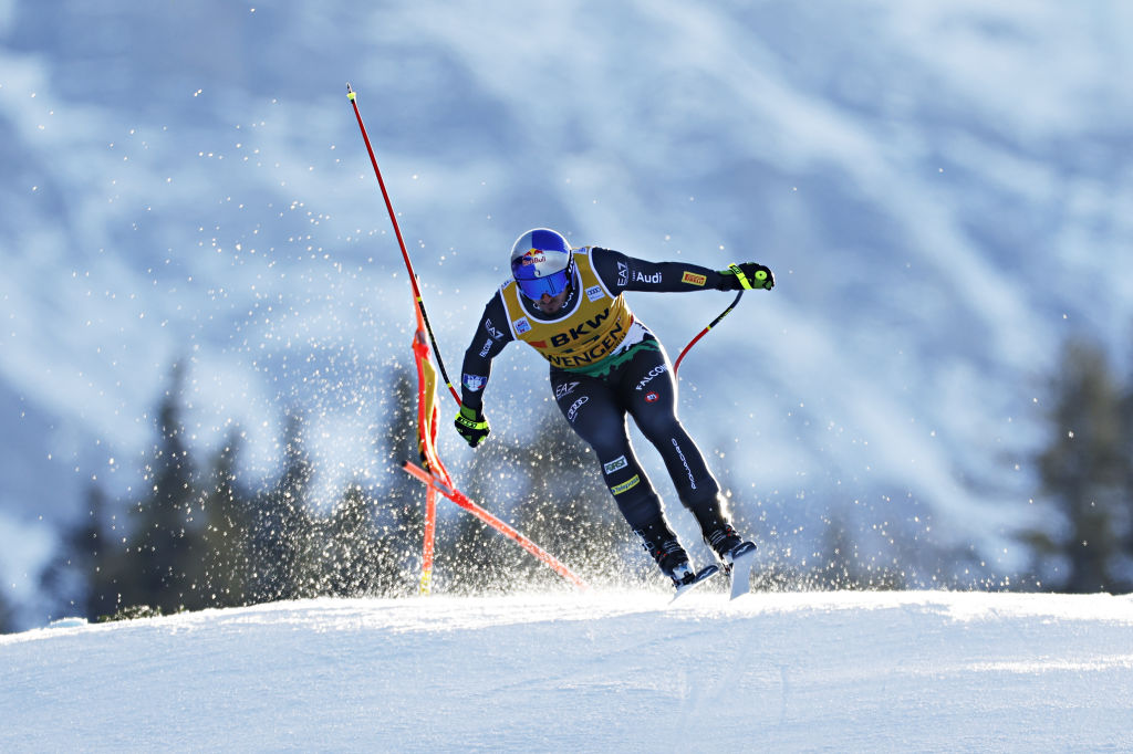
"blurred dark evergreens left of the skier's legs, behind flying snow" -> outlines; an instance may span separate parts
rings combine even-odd
[[[174,368],[174,385],[177,374]],[[92,486],[87,514],[65,532],[44,589],[62,612],[90,620],[416,593],[425,488],[399,469],[417,460],[416,389],[403,369],[394,370],[391,384],[394,410],[384,428],[390,483],[375,489],[352,482],[323,514],[310,500],[316,469],[305,449],[301,411],[287,417],[280,475],[249,489],[240,480],[240,431],[202,462],[186,442],[180,391],[167,391],[155,412],[157,442],[143,470],[144,494],[123,506]],[[533,440],[539,463],[529,443],[500,439],[477,453],[465,491],[580,574],[600,580],[628,529],[595,482],[593,455],[548,406]],[[554,499],[548,486],[556,487]],[[570,490],[566,499],[560,499],[563,490]],[[446,505],[438,499],[442,514]],[[475,517],[452,519],[438,521],[435,590],[502,591],[557,579]]]

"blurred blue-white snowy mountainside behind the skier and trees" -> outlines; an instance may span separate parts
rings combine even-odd
[[[195,446],[246,432],[248,479],[293,405],[324,503],[389,477],[369,432],[412,315],[348,80],[450,372],[530,226],[763,262],[776,290],[681,371],[765,551],[836,520],[1010,577],[1060,343],[1127,357],[1131,31],[1116,1],[0,0],[9,599],[91,485],[137,489],[167,389]],[[630,301],[674,355],[726,302]],[[503,437],[548,397],[519,348],[488,391]]]

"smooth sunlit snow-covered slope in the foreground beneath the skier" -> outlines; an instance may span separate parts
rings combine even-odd
[[[1133,600],[317,600],[0,636],[0,749],[1128,751]]]

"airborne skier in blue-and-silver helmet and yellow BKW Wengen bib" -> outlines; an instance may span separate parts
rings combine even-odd
[[[630,447],[627,413],[661,453],[681,503],[724,568],[742,558],[750,569],[756,546],[732,528],[719,485],[676,418],[668,357],[622,292],[770,290],[770,269],[746,263],[717,272],[599,247],[572,249],[561,233],[539,228],[516,241],[511,272],[485,307],[465,352],[463,405],[455,419],[460,436],[472,447],[488,436],[483,394],[492,359],[511,341],[523,341],[551,363],[559,410],[594,448],[619,509],[678,592],[717,568],[693,571]],[[742,576],[746,584],[747,574]]]

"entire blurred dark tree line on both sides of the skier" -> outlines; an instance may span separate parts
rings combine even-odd
[[[155,412],[157,442],[144,469],[144,492],[110,500],[92,486],[86,515],[65,532],[59,556],[44,571],[43,586],[59,615],[95,620],[320,596],[416,593],[425,491],[398,470],[402,460],[417,456],[416,392],[404,369],[395,369],[390,384],[394,408],[381,430],[390,483],[381,489],[350,483],[323,514],[309,499],[316,470],[305,449],[301,411],[288,415],[279,477],[252,489],[240,479],[240,432],[233,430],[199,459],[186,442],[179,391],[167,391]],[[1133,591],[1133,380],[1115,374],[1101,346],[1072,340],[1047,405],[1047,437],[1032,459],[1039,480],[1031,502],[1036,523],[1021,534],[1031,566],[1005,588]],[[471,469],[460,474],[465,491],[588,581],[624,584],[656,576],[636,551],[593,453],[553,402],[536,423],[531,439],[496,436],[479,448]],[[718,471],[726,488],[727,471]],[[744,512],[738,513],[743,519]],[[756,521],[738,524],[760,529]],[[837,520],[824,519],[824,528],[815,551],[796,563],[772,564],[764,586],[909,585],[915,567],[898,560],[878,566]],[[937,557],[947,563],[964,554]],[[435,591],[556,585],[557,576],[475,517],[442,516]],[[939,585],[956,584],[945,577]],[[0,631],[11,616],[0,594]]]

